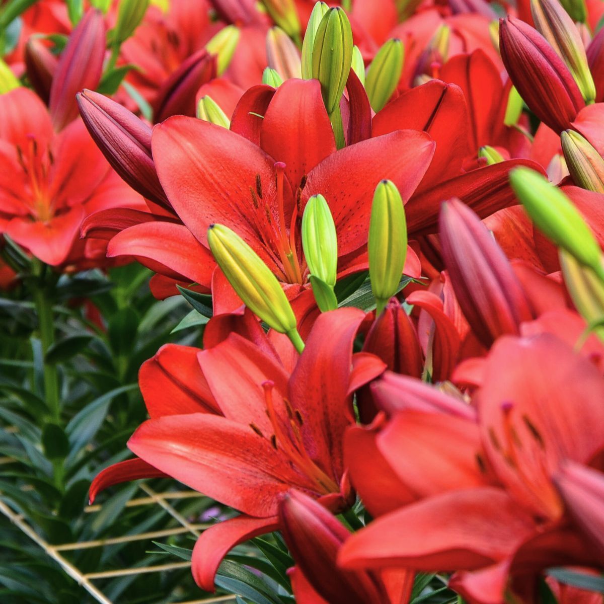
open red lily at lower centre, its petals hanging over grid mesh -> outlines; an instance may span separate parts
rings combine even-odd
[[[352,354],[364,316],[358,309],[324,313],[299,357],[278,354],[257,324],[251,329],[260,329],[258,344],[231,333],[197,352],[199,367],[194,349],[180,350],[181,362],[162,355],[164,377],[145,397],[152,419],[128,443],[138,459],[103,471],[91,494],[129,473],[169,475],[242,512],[205,531],[193,550],[193,576],[205,590],[213,590],[216,569],[234,545],[278,527],[278,503],[292,487],[330,509],[349,506],[342,439],[354,422],[351,395],[384,370],[379,359]],[[175,405],[158,395],[158,383],[175,375],[169,367],[188,376],[167,385],[179,391]],[[152,371],[149,365],[145,373]],[[141,389],[150,393],[148,378],[141,371]]]

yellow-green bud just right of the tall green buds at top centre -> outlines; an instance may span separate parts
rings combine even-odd
[[[405,48],[399,39],[388,40],[379,51],[365,78],[365,90],[373,111],[380,111],[396,90],[403,71]]]

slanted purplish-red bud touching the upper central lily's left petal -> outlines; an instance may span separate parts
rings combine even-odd
[[[80,92],[77,103],[88,132],[115,172],[147,199],[170,207],[153,164],[150,126],[98,92]]]

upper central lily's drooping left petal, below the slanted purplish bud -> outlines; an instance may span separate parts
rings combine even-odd
[[[210,251],[185,226],[172,222],[130,226],[109,242],[107,255],[133,255],[152,270],[164,272],[156,266],[159,263],[172,271],[167,276],[179,278],[182,275],[206,287],[210,286],[216,266]]]

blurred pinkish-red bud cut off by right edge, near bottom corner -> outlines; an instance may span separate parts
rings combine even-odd
[[[568,461],[554,483],[571,518],[604,556],[604,474]]]

